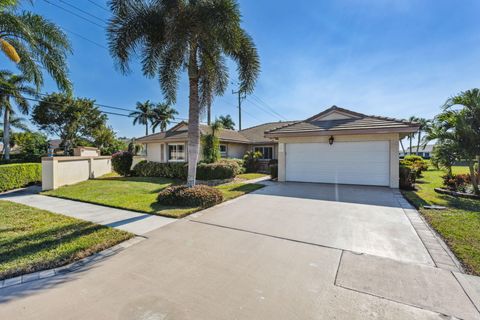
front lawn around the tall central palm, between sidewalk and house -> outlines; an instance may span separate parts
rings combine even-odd
[[[172,207],[158,204],[158,192],[175,183],[181,182],[154,177],[107,176],[64,186],[43,194],[174,218],[181,218],[198,211],[200,208],[197,207]],[[259,184],[234,183],[215,188],[222,191],[225,200],[230,200],[262,187]]]

